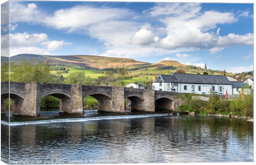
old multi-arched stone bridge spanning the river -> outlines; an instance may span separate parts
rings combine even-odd
[[[5,101],[11,98],[12,113],[40,115],[40,99],[52,95],[59,99],[62,113],[83,113],[83,99],[92,96],[98,101],[99,111],[125,112],[124,100],[131,101],[131,109],[138,111],[176,110],[178,93],[142,90],[126,87],[46,84],[36,82],[1,82],[1,113],[6,112]],[[182,101],[181,101],[182,102]]]

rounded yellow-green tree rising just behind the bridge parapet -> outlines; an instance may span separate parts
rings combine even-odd
[[[71,73],[69,77],[64,80],[65,84],[80,84],[80,85],[91,85],[90,77],[85,77],[84,72]]]

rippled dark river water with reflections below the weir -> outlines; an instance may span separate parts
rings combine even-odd
[[[1,126],[5,158],[8,127]],[[214,116],[19,125],[10,137],[11,163],[253,161],[253,123]]]

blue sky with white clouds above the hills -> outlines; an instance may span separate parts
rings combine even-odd
[[[10,56],[97,55],[253,70],[253,4],[10,1]],[[7,17],[8,18],[8,17]],[[5,54],[7,44],[2,44]]]

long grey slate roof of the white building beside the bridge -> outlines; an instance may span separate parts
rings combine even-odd
[[[232,83],[223,75],[198,75],[187,73],[173,73],[173,75],[161,75],[164,82],[197,83],[197,84],[228,84]]]

